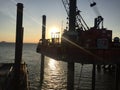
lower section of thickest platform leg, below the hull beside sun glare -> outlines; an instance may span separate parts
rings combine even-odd
[[[68,62],[67,90],[74,90],[74,62]]]

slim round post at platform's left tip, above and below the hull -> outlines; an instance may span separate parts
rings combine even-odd
[[[45,32],[46,32],[46,16],[42,16],[42,45],[45,45]],[[44,79],[44,59],[45,56],[41,54],[41,70],[40,70],[40,86],[42,87]]]

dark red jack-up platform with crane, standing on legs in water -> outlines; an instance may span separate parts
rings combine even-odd
[[[62,0],[63,2],[65,0]],[[67,89],[74,90],[74,63],[93,64],[92,71],[92,90],[95,90],[95,69],[96,65],[116,64],[116,78],[118,79],[120,64],[120,41],[112,41],[112,30],[103,27],[103,17],[95,18],[94,26],[86,30],[83,24],[78,24],[79,13],[76,7],[76,0],[66,0],[69,16],[69,29],[62,35],[61,43],[46,44],[39,43],[37,52],[56,60],[68,62],[68,81]],[[94,2],[91,7],[95,6]],[[66,3],[64,3],[66,7]],[[80,16],[80,15],[79,15]],[[83,18],[78,18],[78,20]],[[80,20],[80,21],[81,21]],[[83,21],[84,22],[84,21]],[[100,27],[100,24],[101,27]],[[86,25],[86,24],[85,24]],[[79,26],[79,27],[78,27]],[[71,72],[70,72],[71,71]],[[116,89],[118,80],[116,79]]]

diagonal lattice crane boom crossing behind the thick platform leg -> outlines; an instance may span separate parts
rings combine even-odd
[[[70,6],[69,0],[62,0],[62,3],[64,5],[64,8],[65,8],[67,15],[69,17],[69,6]],[[80,29],[83,29],[83,30],[89,29],[88,25],[85,23],[84,19],[80,15],[80,10],[78,10],[77,7],[76,7],[76,26]]]

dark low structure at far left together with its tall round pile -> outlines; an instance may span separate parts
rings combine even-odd
[[[28,90],[28,71],[22,62],[23,4],[17,4],[15,63],[0,64],[0,90]]]

